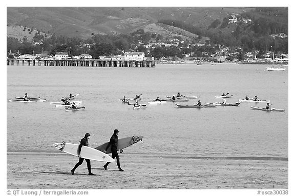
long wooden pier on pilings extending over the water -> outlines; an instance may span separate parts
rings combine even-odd
[[[122,67],[122,68],[155,68],[154,60],[100,60],[100,59],[52,59],[28,60],[7,59],[7,66],[63,66],[63,67]]]

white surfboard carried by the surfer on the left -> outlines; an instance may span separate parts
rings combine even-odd
[[[65,153],[78,157],[78,147],[79,147],[78,144],[71,144],[71,143],[64,142],[64,143],[55,143],[53,144],[53,146],[59,149],[60,151],[63,151]],[[91,159],[94,161],[103,161],[103,162],[115,161],[114,159],[112,159],[112,157],[103,153],[102,151],[99,151],[97,149],[94,149],[88,146],[81,147],[80,155],[84,159]]]

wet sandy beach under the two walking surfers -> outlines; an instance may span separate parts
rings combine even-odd
[[[288,189],[288,161],[120,154],[109,170],[65,153],[7,153],[7,189]],[[90,183],[91,182],[91,183]]]

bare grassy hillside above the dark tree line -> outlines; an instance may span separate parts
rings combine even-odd
[[[89,38],[93,34],[129,34],[138,29],[191,37],[179,28],[157,24],[161,19],[180,20],[206,30],[214,20],[253,8],[224,7],[7,7],[7,32],[24,26],[47,34]],[[163,30],[163,31],[162,31]],[[180,33],[180,34],[179,34]]]

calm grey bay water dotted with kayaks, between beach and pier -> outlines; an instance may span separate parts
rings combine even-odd
[[[265,65],[157,64],[156,68],[85,68],[7,66],[7,101],[39,96],[41,103],[7,102],[7,151],[57,152],[56,142],[79,143],[89,132],[90,146],[143,135],[143,143],[124,151],[198,157],[288,157],[288,68],[270,72]],[[285,83],[284,83],[285,82]],[[199,95],[201,102],[221,102],[214,96],[233,94],[270,100],[286,112],[264,112],[241,103],[216,108],[178,108],[174,103],[150,105],[157,97]],[[85,111],[65,112],[49,102],[80,94]],[[133,110],[119,100],[142,94],[147,108]],[[197,99],[197,100],[198,100]],[[180,104],[194,104],[192,99]]]

